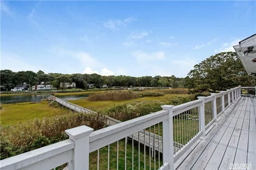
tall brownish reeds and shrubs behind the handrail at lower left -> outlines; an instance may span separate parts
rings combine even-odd
[[[65,117],[36,119],[19,125],[1,127],[1,159],[66,140],[66,129],[86,125],[98,130],[106,127],[106,122],[106,117],[101,114],[72,113]]]

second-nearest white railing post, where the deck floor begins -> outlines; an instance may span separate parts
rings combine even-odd
[[[168,163],[168,170],[174,170],[174,157],[173,157],[173,105],[161,106],[164,111],[169,111],[168,119],[163,121],[163,164]]]

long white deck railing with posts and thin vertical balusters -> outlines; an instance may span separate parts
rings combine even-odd
[[[86,126],[68,129],[65,132],[70,139],[1,160],[0,168],[54,169],[68,163],[70,170],[89,167],[172,170],[174,162],[198,138],[204,138],[206,130],[238,101],[240,92],[241,87],[236,87],[182,105],[164,105],[162,111],[96,131]]]

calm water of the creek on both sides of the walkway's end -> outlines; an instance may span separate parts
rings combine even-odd
[[[67,100],[77,100],[87,98],[90,94],[82,95],[63,95],[58,96],[58,98]],[[21,103],[21,102],[39,102],[41,99],[47,99],[49,95],[12,95],[12,96],[1,96],[1,103]]]

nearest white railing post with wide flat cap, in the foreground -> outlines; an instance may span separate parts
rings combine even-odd
[[[73,160],[68,162],[69,170],[89,169],[89,134],[93,128],[80,126],[65,130],[69,138],[75,142]]]

